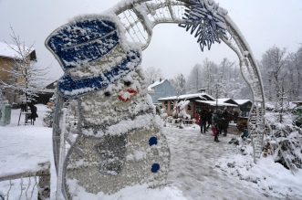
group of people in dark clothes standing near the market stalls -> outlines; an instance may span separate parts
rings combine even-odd
[[[200,111],[199,115],[202,133],[208,131],[211,126],[214,142],[219,142],[218,136],[220,134],[226,136],[227,128],[229,126],[229,122],[231,121],[231,114],[226,109],[224,109],[224,111],[221,111],[219,109],[217,111],[212,111],[211,109],[203,109],[202,111]]]

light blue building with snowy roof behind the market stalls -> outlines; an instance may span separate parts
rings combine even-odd
[[[168,79],[160,79],[148,86],[148,93],[152,98],[153,104],[159,104],[159,99],[176,95],[176,89]]]

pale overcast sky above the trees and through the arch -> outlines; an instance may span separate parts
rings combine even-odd
[[[47,36],[73,16],[101,14],[118,0],[0,0],[0,41],[10,42],[9,26],[26,45],[34,43],[38,64],[49,66],[50,79],[58,79],[62,69],[44,46]],[[216,0],[228,10],[252,48],[261,59],[269,47],[286,47],[294,52],[302,44],[302,0]],[[153,29],[151,45],[143,52],[143,68],[161,68],[165,78],[178,73],[188,75],[196,63],[210,58],[236,59],[224,44],[214,44],[201,52],[196,39],[177,25],[159,25]],[[49,80],[50,81],[50,80]]]

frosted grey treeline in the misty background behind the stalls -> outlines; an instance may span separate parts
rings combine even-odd
[[[270,47],[257,62],[266,100],[276,101],[281,96],[287,100],[301,100],[302,45],[296,52]],[[163,78],[160,69],[149,68],[147,71],[148,84]],[[177,90],[177,95],[197,93],[199,89],[205,89],[214,98],[251,99],[252,95],[242,78],[237,61],[228,58],[219,63],[205,58],[201,64],[193,66],[188,77],[177,74],[170,81]]]

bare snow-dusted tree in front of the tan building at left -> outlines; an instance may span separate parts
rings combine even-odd
[[[11,30],[11,38],[14,45],[5,43],[15,54],[14,63],[6,68],[0,67],[1,72],[8,74],[8,79],[5,81],[0,80],[0,87],[5,91],[14,92],[14,96],[21,94],[25,96],[25,100],[33,100],[36,96],[36,91],[41,89],[41,81],[46,80],[47,68],[36,67],[36,55],[33,54],[33,45],[26,47],[12,27]]]

